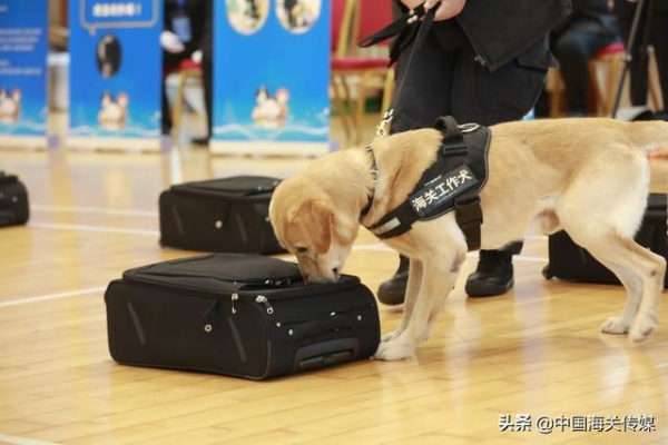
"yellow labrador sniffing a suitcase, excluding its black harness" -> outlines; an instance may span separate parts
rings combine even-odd
[[[647,205],[647,152],[668,145],[668,122],[552,119],[490,128],[489,178],[480,192],[481,248],[523,238],[536,218],[546,234],[564,229],[617,275],[628,291],[603,333],[645,339],[656,327],[666,260],[633,241]],[[371,227],[402,204],[434,161],[443,136],[420,129],[333,152],[283,181],[269,205],[281,244],[307,283],[334,281],[362,222]],[[373,195],[372,207],[361,219]],[[375,358],[397,360],[430,337],[468,251],[454,212],[418,221],[385,243],[411,259],[404,312]]]

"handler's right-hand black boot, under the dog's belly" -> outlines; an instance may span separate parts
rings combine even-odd
[[[499,250],[480,250],[478,268],[466,279],[470,297],[505,294],[514,284],[512,256],[522,250],[523,241],[510,243]]]

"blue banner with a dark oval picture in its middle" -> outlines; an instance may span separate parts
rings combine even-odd
[[[70,0],[70,140],[160,135],[161,0]]]

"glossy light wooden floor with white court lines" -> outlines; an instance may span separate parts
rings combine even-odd
[[[412,360],[261,383],[116,364],[107,284],[127,268],[195,254],[158,245],[160,191],[237,174],[286,177],[306,161],[195,147],[0,149],[0,169],[20,175],[31,201],[27,226],[0,230],[0,443],[668,443],[668,305],[644,344],[600,334],[620,313],[622,289],[546,280],[547,239],[533,231],[505,296],[466,299],[472,255]],[[668,161],[652,171],[652,188],[666,190]],[[344,271],[375,291],[396,263],[363,231]],[[400,316],[381,306],[383,330]]]

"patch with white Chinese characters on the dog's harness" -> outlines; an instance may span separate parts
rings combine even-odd
[[[432,179],[420,190],[409,196],[413,210],[421,217],[433,212],[439,206],[478,184],[478,179],[465,164]]]

